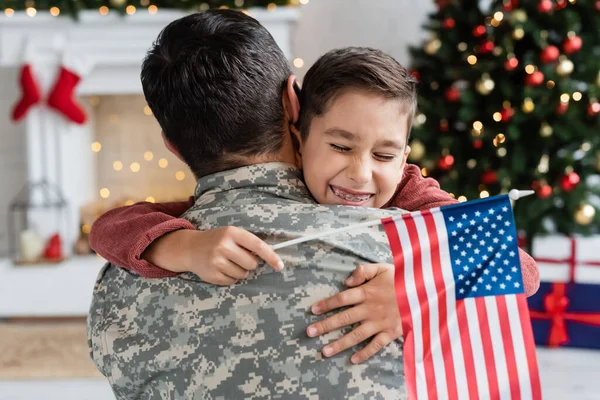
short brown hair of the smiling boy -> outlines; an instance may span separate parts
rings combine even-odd
[[[409,135],[417,109],[417,79],[392,56],[368,47],[346,47],[321,56],[304,76],[298,129],[306,140],[312,119],[327,112],[344,91],[359,89],[402,105]],[[408,140],[408,138],[407,138]]]

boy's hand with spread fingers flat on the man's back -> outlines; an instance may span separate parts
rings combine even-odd
[[[309,326],[306,332],[314,337],[360,322],[360,326],[352,332],[323,348],[323,355],[331,357],[374,336],[365,348],[354,353],[350,359],[353,364],[358,364],[402,336],[394,289],[394,266],[359,265],[346,284],[353,288],[319,301],[313,305],[312,311],[321,315],[344,306],[354,307]]]

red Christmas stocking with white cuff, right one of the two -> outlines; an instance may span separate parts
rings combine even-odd
[[[77,50],[67,49],[63,55],[58,79],[48,96],[48,105],[69,121],[84,124],[87,116],[75,100],[75,90],[81,79],[93,68],[93,63],[79,55]]]

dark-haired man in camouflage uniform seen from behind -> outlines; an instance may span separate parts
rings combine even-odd
[[[165,143],[199,177],[195,205],[184,216],[198,229],[234,225],[273,244],[394,213],[315,203],[291,165],[289,123],[298,120],[298,100],[290,75],[264,27],[231,10],[174,21],[144,61],[144,93]],[[88,339],[115,395],[405,398],[400,342],[351,364],[348,352],[328,359],[320,352],[347,330],[305,333],[317,322],[311,305],[343,290],[357,264],[391,262],[382,227],[278,253],[283,271],[261,265],[228,287],[191,273],[146,279],[107,264],[94,287]],[[382,292],[393,301],[393,275],[386,276]]]

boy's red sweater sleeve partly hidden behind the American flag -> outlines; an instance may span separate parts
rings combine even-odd
[[[416,211],[455,203],[458,201],[440,189],[440,185],[435,179],[424,178],[418,166],[406,164],[402,181],[398,185],[394,197],[386,206]],[[522,249],[519,249],[519,258],[523,270],[525,294],[531,296],[540,287],[540,272],[535,260]]]

